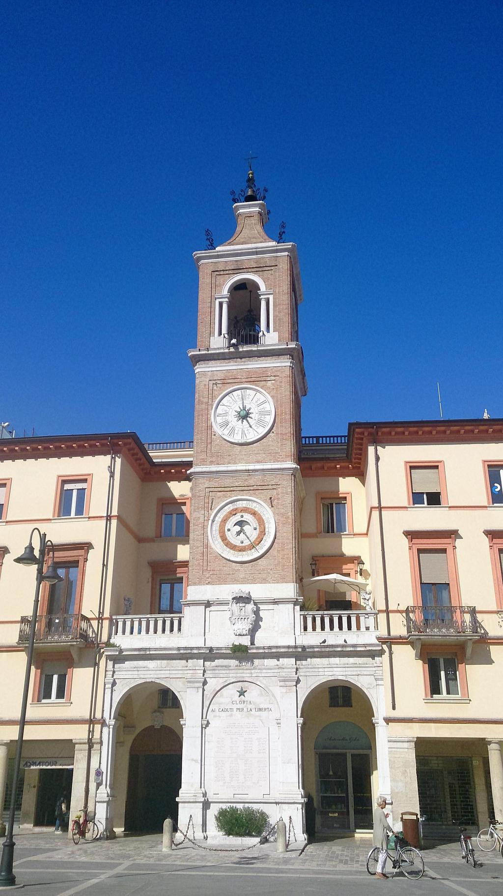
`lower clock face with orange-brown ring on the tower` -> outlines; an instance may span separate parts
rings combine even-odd
[[[276,523],[267,504],[257,498],[232,498],[212,513],[209,544],[234,563],[251,563],[267,554],[276,537]]]

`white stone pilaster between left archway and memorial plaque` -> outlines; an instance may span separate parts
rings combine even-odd
[[[194,669],[188,671],[183,726],[182,787],[177,797],[179,805],[178,827],[185,831],[192,815],[196,834],[202,833],[203,801],[206,792],[202,789],[202,701],[204,679]]]

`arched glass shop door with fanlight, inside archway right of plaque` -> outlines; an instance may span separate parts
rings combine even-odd
[[[337,749],[338,746],[354,749]],[[316,830],[368,831],[372,827],[371,742],[352,722],[331,722],[316,738]]]

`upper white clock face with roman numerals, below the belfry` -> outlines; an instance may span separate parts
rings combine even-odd
[[[274,425],[276,410],[267,392],[257,386],[227,389],[213,405],[211,423],[226,442],[259,442]]]

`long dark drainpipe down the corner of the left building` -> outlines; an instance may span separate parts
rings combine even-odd
[[[108,439],[108,444],[111,440]],[[98,682],[99,682],[99,663],[101,660],[101,651],[99,644],[103,638],[103,611],[105,606],[105,594],[107,591],[107,569],[108,569],[108,553],[110,550],[110,533],[111,533],[111,512],[112,501],[114,496],[114,476],[115,476],[115,453],[114,449],[110,452],[110,463],[108,464],[108,491],[107,491],[107,513],[105,514],[105,531],[103,535],[103,557],[101,561],[101,581],[99,582],[99,600],[98,600],[98,616],[96,621],[96,639],[94,642],[94,664],[92,668],[92,682],[90,686],[90,711],[88,718],[88,743],[86,750],[86,773],[84,778],[84,795],[83,810],[88,811],[90,798],[90,761],[92,747],[94,743],[94,729],[96,718],[96,707],[98,702]]]

